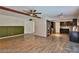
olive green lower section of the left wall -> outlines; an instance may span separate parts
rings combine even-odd
[[[24,26],[0,26],[0,37],[24,33]]]

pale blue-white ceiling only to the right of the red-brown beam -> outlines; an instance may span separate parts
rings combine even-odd
[[[38,12],[41,12],[42,17],[54,17],[63,13],[63,16],[73,15],[76,10],[79,8],[78,6],[7,6],[8,8],[12,8],[15,10],[23,11],[23,10],[31,10],[36,9]],[[39,15],[40,16],[40,15]]]

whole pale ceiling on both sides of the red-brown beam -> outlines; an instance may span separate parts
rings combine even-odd
[[[47,17],[47,18],[53,18],[54,16],[59,15],[60,13],[63,13],[63,16],[71,16],[75,12],[78,13],[79,7],[78,6],[6,6],[11,9],[15,9],[18,11],[23,11],[23,10],[31,10],[31,9],[36,9],[38,12],[41,12],[42,14],[39,15],[41,17]],[[21,17],[21,18],[26,18],[25,15],[9,12],[0,9],[0,14],[2,15],[7,15],[7,16],[14,16],[14,17]]]

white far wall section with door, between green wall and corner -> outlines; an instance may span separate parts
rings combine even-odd
[[[35,32],[35,22],[29,21],[29,19],[33,19],[33,17],[28,16],[24,20],[24,34],[33,34]]]

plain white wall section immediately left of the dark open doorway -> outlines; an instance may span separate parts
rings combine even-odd
[[[44,19],[35,19],[35,35],[47,36],[47,23]]]

